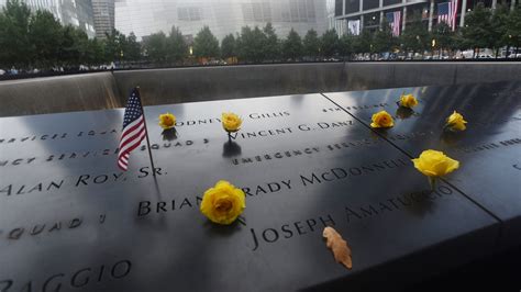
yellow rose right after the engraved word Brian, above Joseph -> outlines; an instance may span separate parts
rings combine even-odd
[[[202,196],[201,213],[219,224],[231,224],[246,207],[246,199],[241,189],[225,180],[208,189]]]

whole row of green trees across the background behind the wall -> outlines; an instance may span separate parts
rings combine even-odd
[[[431,45],[435,40],[435,46]],[[399,41],[399,42],[397,42]],[[398,46],[400,44],[400,46]],[[499,4],[496,10],[478,3],[467,13],[466,25],[453,32],[445,23],[436,24],[431,33],[414,15],[414,21],[393,37],[385,22],[381,30],[372,33],[363,30],[361,35],[343,35],[339,38],[334,30],[322,36],[313,30],[303,40],[293,30],[281,41],[271,23],[264,27],[244,26],[234,36],[219,41],[208,26],[196,36],[193,54],[197,57],[237,57],[244,63],[263,63],[301,57],[317,58],[336,55],[351,57],[355,53],[384,53],[396,47],[404,50],[495,48],[521,46],[521,5],[512,11]],[[0,11],[0,67],[9,69],[97,66],[111,61],[130,63],[146,56],[156,64],[179,64],[188,57],[188,45],[182,33],[171,27],[168,35],[163,32],[144,37],[142,43],[131,33],[124,35],[114,30],[103,40],[89,40],[87,34],[70,25],[63,26],[51,12],[33,11],[24,0],[8,0]]]

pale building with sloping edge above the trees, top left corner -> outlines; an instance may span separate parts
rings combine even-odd
[[[32,11],[47,10],[64,25],[79,27],[89,37],[96,36],[91,0],[20,0]],[[7,0],[0,0],[0,9]]]

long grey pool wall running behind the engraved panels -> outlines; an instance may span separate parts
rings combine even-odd
[[[521,63],[312,63],[140,69],[0,81],[0,116],[380,88],[521,81]]]

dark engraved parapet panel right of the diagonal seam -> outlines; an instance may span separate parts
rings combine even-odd
[[[402,93],[419,100],[413,111],[397,105]],[[410,157],[436,149],[459,160],[459,169],[446,180],[503,222],[501,245],[521,243],[520,82],[324,94],[367,127],[378,110],[366,104],[385,103],[395,126],[375,132]],[[454,111],[467,121],[465,131],[444,130]]]

